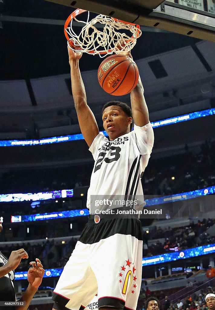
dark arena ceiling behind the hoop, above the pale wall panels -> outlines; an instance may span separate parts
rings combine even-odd
[[[0,2],[0,80],[69,73],[64,22],[74,9],[44,0]],[[132,51],[134,60],[199,41],[161,29],[142,29]],[[83,58],[81,70],[97,69],[101,62],[98,56]]]

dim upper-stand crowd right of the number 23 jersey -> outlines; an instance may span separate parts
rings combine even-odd
[[[150,161],[142,185],[145,195],[172,195],[215,185],[215,144],[205,141],[200,152]]]

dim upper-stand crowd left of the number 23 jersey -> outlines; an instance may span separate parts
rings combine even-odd
[[[35,193],[71,189],[90,184],[93,164],[79,164],[52,169],[22,169],[1,175],[0,193]]]

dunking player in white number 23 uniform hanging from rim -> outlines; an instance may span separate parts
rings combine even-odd
[[[141,222],[137,215],[101,218],[97,214],[102,210],[109,212],[107,203],[100,201],[95,210],[92,201],[94,196],[143,197],[140,176],[154,143],[143,85],[139,78],[130,94],[132,109],[118,101],[104,105],[102,119],[108,139],[99,133],[87,105],[79,70],[82,53],[68,47],[68,54],[78,122],[95,160],[87,195],[87,206],[94,216],[90,216],[59,278],[53,309],[84,309],[98,293],[100,310],[135,310],[142,278]],[[129,52],[122,54],[131,57]]]

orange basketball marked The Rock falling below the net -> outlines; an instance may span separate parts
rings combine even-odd
[[[99,84],[108,94],[122,96],[133,91],[139,72],[134,60],[124,55],[110,55],[99,66]]]

